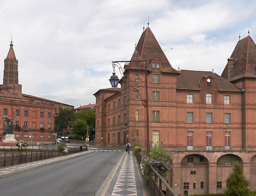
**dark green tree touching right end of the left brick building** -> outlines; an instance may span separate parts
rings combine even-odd
[[[72,109],[59,109],[59,113],[54,118],[54,132],[63,132],[70,122],[74,121],[74,112]]]

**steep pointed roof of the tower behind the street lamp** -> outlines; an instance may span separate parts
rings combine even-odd
[[[131,60],[147,60],[147,64],[149,64],[150,59],[161,60],[162,72],[180,74],[178,71],[172,68],[168,62],[168,59],[164,55],[162,48],[151,32],[151,29],[148,27],[142,33]],[[139,65],[142,65],[142,63],[132,62],[130,65],[126,66],[125,69],[139,69]]]

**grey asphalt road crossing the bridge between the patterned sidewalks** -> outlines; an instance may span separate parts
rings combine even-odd
[[[119,151],[96,151],[0,179],[0,195],[95,195],[123,154]]]

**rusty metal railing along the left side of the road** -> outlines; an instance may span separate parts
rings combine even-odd
[[[87,150],[87,147],[83,148],[83,151]],[[4,152],[0,154],[0,167],[14,166],[16,164],[45,160],[47,158],[66,156],[77,152],[80,152],[79,147],[68,148],[68,152],[63,152],[57,149]]]

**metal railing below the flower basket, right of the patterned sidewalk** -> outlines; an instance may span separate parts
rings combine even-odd
[[[135,154],[138,163],[141,163],[142,155],[136,150]],[[178,194],[173,190],[172,187],[167,183],[167,181],[152,167],[150,166],[150,175],[148,180],[148,186],[151,196],[162,195],[162,196],[178,196]],[[166,191],[164,191],[166,190]]]

